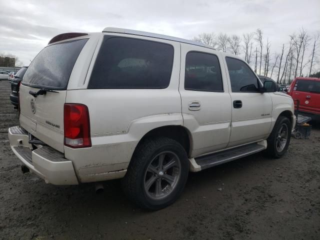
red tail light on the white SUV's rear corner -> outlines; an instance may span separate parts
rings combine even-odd
[[[65,103],[63,109],[64,145],[90,147],[90,120],[86,105]]]

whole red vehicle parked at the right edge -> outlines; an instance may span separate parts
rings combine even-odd
[[[303,112],[314,120],[320,120],[320,78],[296,77],[291,82],[287,93],[293,99],[300,101],[299,112]]]

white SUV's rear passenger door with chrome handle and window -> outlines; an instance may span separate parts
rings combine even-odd
[[[221,55],[213,49],[181,43],[179,92],[183,125],[192,136],[191,156],[227,146],[231,99]]]

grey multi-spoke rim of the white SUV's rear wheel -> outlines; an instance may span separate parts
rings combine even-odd
[[[169,195],[180,178],[181,163],[172,151],[162,151],[150,161],[144,173],[144,191],[159,200]]]

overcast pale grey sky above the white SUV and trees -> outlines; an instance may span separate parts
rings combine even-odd
[[[0,52],[24,65],[53,36],[131,28],[190,39],[201,32],[242,34],[261,28],[279,51],[300,27],[320,30],[320,0],[0,0]]]

